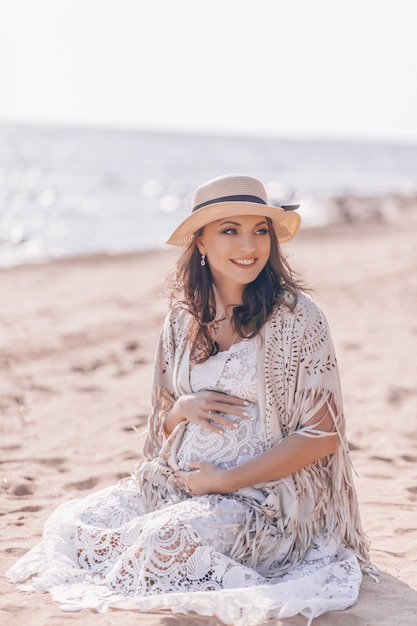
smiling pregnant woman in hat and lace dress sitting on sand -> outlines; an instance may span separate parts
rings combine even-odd
[[[326,319],[256,178],[199,187],[155,359],[145,460],[62,504],[8,572],[64,608],[260,624],[353,604],[369,568]]]

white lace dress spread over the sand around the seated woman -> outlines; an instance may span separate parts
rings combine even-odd
[[[192,366],[194,392],[214,389],[244,398],[249,416],[235,418],[238,428],[223,435],[189,424],[177,456],[181,469],[201,460],[232,467],[266,449],[257,404],[258,341],[242,341]],[[8,575],[24,581],[36,574],[32,588],[51,592],[67,610],[169,608],[216,615],[236,626],[300,612],[311,619],[355,602],[360,567],[334,539],[317,537],[305,559],[279,578],[265,553],[253,555],[255,567],[239,561],[248,549],[239,545],[250,506],[240,496],[248,491],[253,502],[267,497],[255,487],[203,497],[173,490],[149,510],[132,477],[58,507],[43,541]]]

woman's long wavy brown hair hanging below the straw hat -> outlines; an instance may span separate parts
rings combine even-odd
[[[233,308],[230,317],[233,328],[242,339],[255,337],[277,305],[294,308],[299,290],[306,289],[283,256],[269,218],[267,222],[271,240],[268,262],[256,279],[245,286],[243,302]],[[213,278],[208,263],[201,265],[196,244],[203,230],[201,228],[195,233],[167,283],[171,306],[185,308],[194,319],[191,331],[193,363],[201,363],[219,351],[214,339],[219,320],[216,319]]]

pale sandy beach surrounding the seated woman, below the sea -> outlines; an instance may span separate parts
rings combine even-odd
[[[302,231],[285,250],[336,345],[363,525],[380,582],[316,626],[417,623],[417,209]],[[160,296],[176,250],[0,271],[0,548],[3,572],[49,513],[128,475],[150,408]],[[85,610],[0,576],[0,623],[187,626],[212,618]],[[295,617],[282,624],[302,626]]]

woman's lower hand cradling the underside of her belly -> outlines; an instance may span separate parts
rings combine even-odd
[[[204,496],[209,493],[228,493],[224,480],[224,470],[214,465],[200,461],[190,463],[190,471],[177,470],[175,478],[178,487],[192,496]]]

